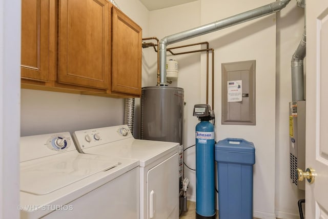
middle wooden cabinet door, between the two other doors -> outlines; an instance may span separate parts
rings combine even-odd
[[[59,1],[59,83],[109,87],[109,16],[106,0]]]

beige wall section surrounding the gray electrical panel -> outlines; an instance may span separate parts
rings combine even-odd
[[[201,21],[207,24],[269,3],[202,1]],[[275,15],[204,35],[201,40],[215,49],[216,141],[236,137],[254,143],[254,216],[275,218]],[[256,60],[256,126],[221,125],[221,64],[248,60]]]

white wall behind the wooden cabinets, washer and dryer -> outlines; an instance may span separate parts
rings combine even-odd
[[[120,9],[148,33],[149,12],[138,0],[115,1]],[[144,59],[144,54],[143,54]],[[144,73],[144,69],[142,69]],[[136,99],[138,102],[138,98]],[[124,99],[22,89],[22,136],[120,125]],[[138,104],[136,104],[138,109]]]

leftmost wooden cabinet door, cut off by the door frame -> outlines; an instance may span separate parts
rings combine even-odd
[[[49,0],[22,0],[21,77],[49,80]]]

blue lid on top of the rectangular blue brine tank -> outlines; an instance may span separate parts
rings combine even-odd
[[[242,138],[226,138],[221,140],[215,144],[215,150],[255,153],[254,144]]]

